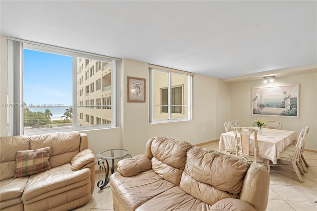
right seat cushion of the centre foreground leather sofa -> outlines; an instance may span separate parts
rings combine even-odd
[[[136,211],[149,211],[151,210],[149,208],[156,211],[209,211],[211,205],[188,195],[180,187],[175,186],[145,202]]]

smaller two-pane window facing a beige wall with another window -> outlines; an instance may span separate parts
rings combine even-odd
[[[150,123],[192,119],[192,75],[150,68]]]

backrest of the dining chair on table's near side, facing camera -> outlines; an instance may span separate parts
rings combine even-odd
[[[233,127],[234,137],[236,140],[236,157],[248,160],[250,158],[253,163],[257,163],[258,158],[258,129],[251,127]],[[238,137],[238,133],[240,137]],[[250,135],[254,133],[254,138],[250,139]],[[250,142],[252,140],[252,142]],[[251,146],[251,150],[250,150]],[[252,150],[253,149],[253,150]],[[252,152],[253,151],[253,152]]]

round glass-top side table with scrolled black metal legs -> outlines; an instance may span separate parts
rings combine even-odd
[[[106,184],[109,182],[109,163],[108,160],[112,161],[112,166],[111,166],[111,174],[114,172],[114,160],[115,159],[120,159],[120,158],[132,158],[131,157],[131,151],[123,148],[117,148],[117,149],[109,149],[109,150],[104,150],[96,154],[96,157],[99,158],[98,160],[98,165],[100,166],[99,169],[105,169],[106,177],[105,181],[99,180],[97,183],[97,186],[102,190]],[[106,165],[104,161],[106,161]]]

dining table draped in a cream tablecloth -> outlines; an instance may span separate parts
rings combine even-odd
[[[237,134],[237,137],[240,137],[240,135]],[[254,133],[250,135],[250,140],[254,140]],[[271,160],[273,164],[277,164],[279,154],[295,141],[295,131],[262,128],[262,133],[258,132],[258,155],[259,157]],[[229,131],[220,135],[219,150],[221,152],[236,151],[235,145],[236,140],[234,131]]]

